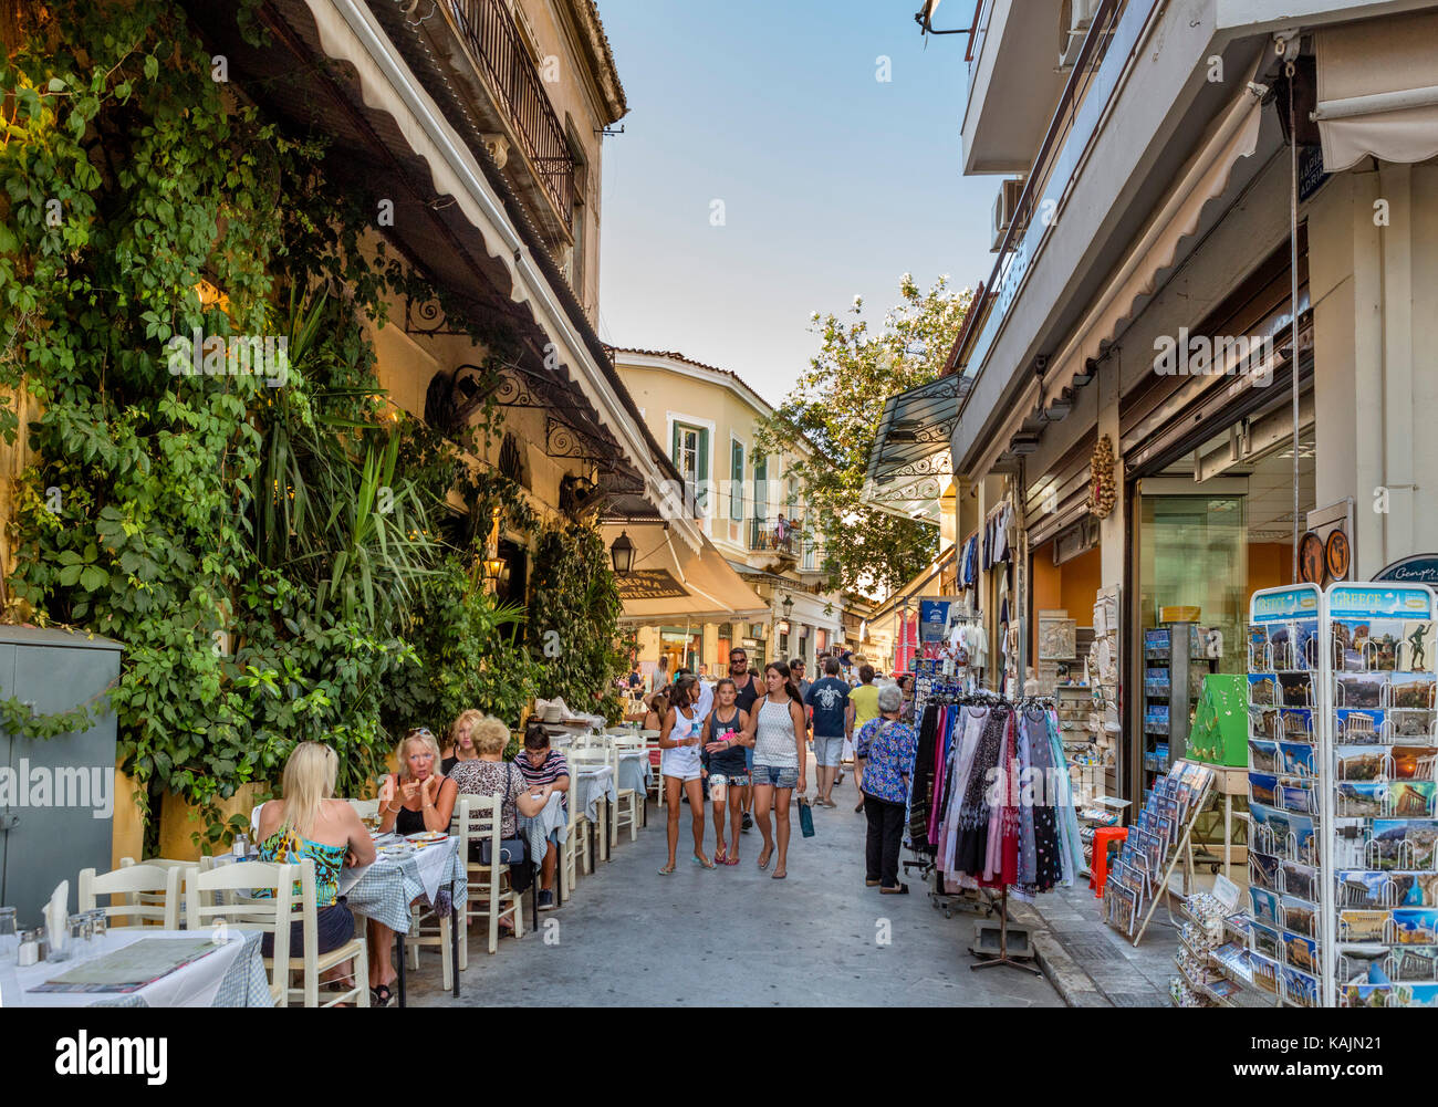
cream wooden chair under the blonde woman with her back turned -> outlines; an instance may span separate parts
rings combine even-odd
[[[295,896],[295,881],[299,881],[299,896]],[[236,861],[209,871],[193,868],[187,884],[194,894],[187,901],[190,930],[204,930],[217,922],[236,930],[260,930],[275,936],[273,956],[265,963],[270,969],[270,995],[278,1006],[289,1006],[290,999],[303,999],[305,1006],[336,1006],[352,999],[358,1006],[370,1006],[370,959],[365,949],[364,929],[329,953],[316,953],[315,910],[315,863],[308,857],[299,864],[276,864],[270,861]],[[270,896],[255,897],[259,890]],[[240,894],[242,891],[250,894]],[[214,903],[204,903],[213,894]],[[290,956],[289,927],[301,922],[305,934],[305,949],[301,956]],[[319,973],[345,960],[354,960],[354,988],[338,993],[325,1003],[319,1002]],[[301,988],[289,986],[292,972],[303,975]]]

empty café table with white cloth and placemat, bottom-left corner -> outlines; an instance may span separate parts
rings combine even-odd
[[[193,930],[161,930],[139,927],[109,930],[93,950],[104,955],[124,949],[142,937],[194,937]],[[219,936],[219,930],[216,930]],[[201,936],[203,937],[203,936]],[[273,1006],[269,975],[260,957],[259,930],[230,930],[227,940],[214,942],[216,950],[181,965],[158,980],[134,992],[30,992],[29,988],[52,980],[91,959],[91,953],[70,960],[45,962],[16,968],[0,979],[0,1002],[4,1006]],[[213,939],[211,939],[213,940]],[[82,960],[83,956],[83,960]],[[9,966],[7,966],[9,968]],[[13,982],[13,983],[12,983]]]

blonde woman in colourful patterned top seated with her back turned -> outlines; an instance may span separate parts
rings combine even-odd
[[[344,799],[335,799],[339,758],[319,742],[301,742],[285,762],[280,776],[283,799],[260,808],[259,850],[262,861],[298,865],[306,857],[315,863],[315,953],[339,949],[354,937],[355,920],[339,899],[339,870],[374,861],[374,841],[360,815]],[[265,893],[267,894],[267,893]],[[290,923],[289,955],[303,956],[303,922]],[[275,955],[275,936],[265,934],[260,949]],[[352,976],[349,962],[335,966],[329,979]]]

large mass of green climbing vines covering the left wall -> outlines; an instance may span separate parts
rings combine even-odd
[[[513,641],[522,612],[476,587],[487,515],[456,525],[443,500],[459,482],[536,520],[499,482],[460,480],[454,446],[387,411],[375,378],[387,299],[443,290],[367,239],[372,197],[326,180],[322,144],[224,96],[180,6],[36,4],[17,26],[0,433],[16,438],[22,388],[40,414],[9,587],[36,621],[124,644],[109,704],[142,799],[198,805],[217,845],[217,802],[275,782],[299,740],[336,749],[344,795],[411,725],[441,732],[467,706],[518,722],[539,670]],[[201,344],[190,375],[173,339],[196,332],[283,338],[288,365],[210,374]],[[555,680],[582,700],[603,653]]]

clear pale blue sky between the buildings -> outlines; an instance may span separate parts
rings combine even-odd
[[[857,293],[877,325],[905,272],[988,279],[998,178],[961,175],[968,37],[925,45],[917,9],[600,0],[630,105],[604,139],[601,338],[733,369],[777,403],[817,349],[811,312]],[[946,0],[936,26],[972,12]]]

